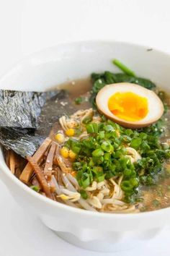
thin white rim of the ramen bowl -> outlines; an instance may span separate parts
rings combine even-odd
[[[170,53],[166,52],[166,51],[162,51],[161,49],[158,48],[152,48],[151,46],[147,46],[145,44],[140,44],[140,43],[131,43],[129,41],[121,41],[121,40],[110,40],[110,39],[105,39],[105,40],[101,40],[101,39],[95,39],[95,40],[69,40],[69,41],[64,41],[64,42],[59,42],[56,43],[54,46],[49,46],[46,48],[42,48],[39,51],[34,51],[32,52],[32,54],[26,54],[22,59],[20,59],[19,61],[17,61],[14,65],[12,65],[12,67],[9,67],[9,69],[6,70],[6,72],[4,72],[3,74],[1,74],[0,77],[0,82],[2,80],[4,80],[4,78],[6,76],[8,76],[13,69],[15,69],[17,67],[17,65],[21,65],[24,64],[24,62],[29,62],[32,58],[35,58],[36,56],[39,56],[40,54],[44,54],[47,51],[51,51],[55,48],[58,48],[60,46],[68,46],[68,45],[81,45],[81,44],[89,44],[89,43],[93,43],[93,44],[97,44],[97,43],[113,43],[113,44],[122,44],[125,46],[132,46],[132,47],[138,47],[138,48],[146,48],[147,49],[152,49],[153,51],[156,51],[158,54],[163,54],[165,56],[169,56],[170,58]],[[1,146],[1,152],[0,152],[0,157],[4,158],[3,155],[3,150],[2,150],[2,146]],[[30,189],[30,187],[27,187],[26,184],[24,184],[23,182],[21,182],[16,176],[14,176],[12,174],[12,172],[9,170],[9,168],[6,166],[5,161],[0,163],[0,168],[1,171],[3,171],[4,175],[8,176],[9,179],[12,180],[12,182],[14,182],[14,184],[17,184],[17,186],[19,186],[21,189],[23,189],[25,192],[28,192],[32,197],[36,197],[37,200],[41,200],[43,203],[46,203],[47,206],[53,206],[55,208],[61,208],[63,210],[68,210],[71,211],[72,213],[79,213],[79,215],[81,216],[89,216],[89,217],[97,217],[97,218],[117,218],[117,219],[143,219],[143,218],[149,218],[151,216],[156,216],[156,215],[160,215],[162,213],[166,213],[167,211],[170,210],[170,207],[168,208],[161,208],[158,210],[153,210],[153,211],[148,211],[148,212],[140,212],[140,213],[101,213],[101,212],[97,212],[97,211],[90,211],[90,210],[84,210],[81,208],[73,208],[69,205],[65,205],[61,202],[56,202],[54,200],[51,200],[48,197],[45,197],[43,195],[40,195],[39,193],[35,192],[34,190]],[[2,179],[3,181],[3,179]],[[7,184],[6,184],[7,187]]]

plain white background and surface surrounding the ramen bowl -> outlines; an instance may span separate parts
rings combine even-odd
[[[169,0],[0,0],[0,74],[58,42],[115,39],[170,52]],[[0,183],[0,256],[113,255],[63,242],[14,202]],[[116,256],[170,255],[170,231]]]

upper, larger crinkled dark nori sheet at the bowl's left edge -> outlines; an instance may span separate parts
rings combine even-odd
[[[45,102],[59,90],[44,93],[0,90],[0,127],[37,128]]]

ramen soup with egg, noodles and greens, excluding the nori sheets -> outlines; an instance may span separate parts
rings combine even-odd
[[[56,119],[40,148],[26,158],[5,150],[6,164],[30,189],[74,208],[104,213],[167,208],[169,95],[114,62],[123,73],[60,85],[68,96],[49,108]]]

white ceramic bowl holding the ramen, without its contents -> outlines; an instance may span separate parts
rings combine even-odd
[[[47,90],[68,79],[91,72],[118,69],[111,63],[120,59],[140,77],[147,77],[170,90],[170,56],[148,51],[145,46],[109,41],[64,43],[32,54],[20,61],[0,80],[0,88]],[[71,208],[37,194],[19,181],[6,167],[0,151],[0,175],[14,200],[31,210],[59,236],[79,247],[98,251],[127,249],[146,241],[170,224],[170,208],[148,213],[94,213]]]

